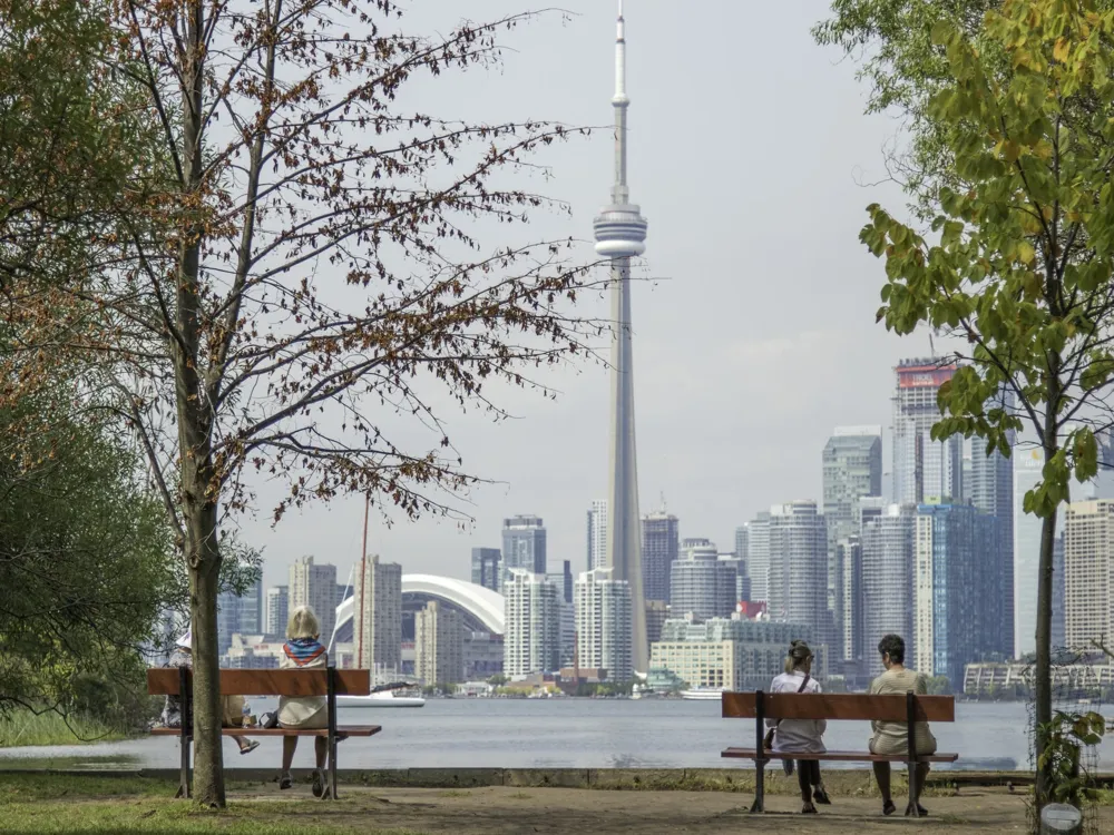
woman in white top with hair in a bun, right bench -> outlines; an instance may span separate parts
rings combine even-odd
[[[793,641],[785,658],[785,671],[774,678],[770,692],[820,692],[820,682],[812,678],[812,650],[804,641]],[[766,719],[766,725],[774,729],[772,750],[779,754],[823,754],[823,735],[828,723],[823,719]],[[793,773],[792,760],[785,762],[785,773]],[[813,799],[820,804],[830,804],[828,793],[820,778],[820,762],[808,757],[798,757],[798,779],[801,785],[801,799],[804,803],[801,813],[817,814]]]

